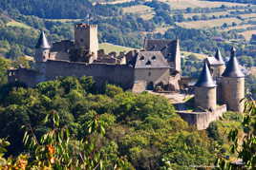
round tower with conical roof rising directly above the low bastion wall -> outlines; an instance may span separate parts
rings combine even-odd
[[[203,70],[195,85],[195,106],[205,110],[216,109],[216,83],[213,81],[209,67],[204,61]]]

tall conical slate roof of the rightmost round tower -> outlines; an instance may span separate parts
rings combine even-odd
[[[236,49],[232,47],[230,59],[223,73],[224,77],[237,77],[237,78],[245,77],[245,74],[242,72],[239,66],[235,52],[236,52]]]

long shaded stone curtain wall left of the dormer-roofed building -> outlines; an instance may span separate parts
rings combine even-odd
[[[65,76],[93,76],[97,85],[110,83],[123,88],[132,88],[134,83],[134,68],[124,65],[71,63],[68,61],[48,60],[37,64],[41,75],[38,82],[54,80]]]

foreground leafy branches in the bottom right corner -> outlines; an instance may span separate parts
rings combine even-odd
[[[233,128],[228,133],[228,140],[231,142],[230,152],[238,154],[235,161],[241,159],[245,169],[254,169],[256,166],[256,104],[255,101],[245,101],[245,113],[243,114],[243,136],[239,135],[239,128]],[[226,160],[222,154],[219,155],[217,163],[222,169],[238,169],[234,162]]]

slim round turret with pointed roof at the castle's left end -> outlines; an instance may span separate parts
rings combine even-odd
[[[50,58],[51,46],[46,38],[45,32],[41,31],[40,37],[35,46],[35,62],[46,62]]]

